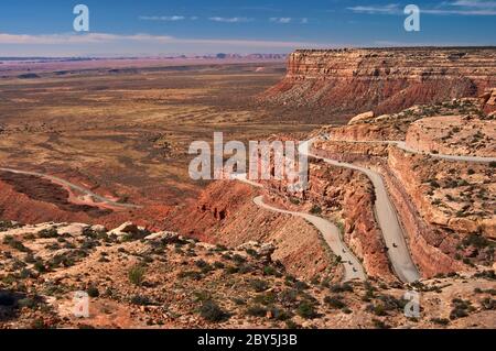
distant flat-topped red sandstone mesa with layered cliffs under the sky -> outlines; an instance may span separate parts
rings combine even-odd
[[[343,114],[397,112],[417,103],[476,97],[496,86],[496,48],[296,51],[263,99]]]

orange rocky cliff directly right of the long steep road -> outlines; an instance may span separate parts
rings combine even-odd
[[[413,259],[423,275],[462,270],[463,265],[456,260],[463,257],[492,265],[494,257],[486,240],[481,239],[484,244],[467,250],[470,238],[481,235],[478,238],[489,239],[495,234],[494,215],[487,210],[492,208],[492,200],[481,201],[471,193],[475,188],[484,194],[489,191],[488,167],[471,165],[478,175],[467,176],[463,168],[453,172],[453,163],[450,162],[429,164],[427,156],[408,154],[396,147],[389,151],[388,163],[384,167],[385,179],[410,237]],[[449,182],[464,178],[472,184],[449,187]],[[440,183],[439,188],[435,182]],[[456,184],[464,183],[459,180]]]

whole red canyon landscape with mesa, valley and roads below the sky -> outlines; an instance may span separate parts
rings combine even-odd
[[[296,51],[285,76],[263,68],[108,87],[91,73],[84,98],[87,73],[44,72],[83,119],[26,102],[25,125],[14,102],[32,87],[15,98],[6,78],[0,328],[494,328],[495,50]],[[308,187],[233,169],[192,182],[188,142],[216,128],[306,143]],[[90,318],[72,316],[76,290]]]

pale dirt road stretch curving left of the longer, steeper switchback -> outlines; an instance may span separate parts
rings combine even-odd
[[[258,188],[262,187],[262,185],[247,179],[245,174],[244,175],[235,175],[235,179],[247,183],[247,184],[258,187]],[[313,216],[313,215],[309,215],[309,213],[304,213],[304,212],[294,212],[294,211],[282,210],[282,209],[276,208],[273,206],[267,205],[263,202],[262,196],[256,197],[254,199],[254,202],[255,202],[255,205],[257,205],[258,207],[260,207],[262,209],[266,209],[266,210],[269,210],[272,212],[277,212],[277,213],[301,217],[304,220],[306,220],[309,223],[313,224],[322,233],[322,237],[324,238],[325,242],[331,248],[331,250],[336,255],[341,256],[343,266],[345,270],[345,275],[344,275],[345,282],[353,281],[353,279],[365,281],[367,278],[365,271],[362,266],[362,263],[358,261],[358,259],[352,253],[352,251],[343,242],[343,240],[341,238],[339,229],[334,223],[332,223],[331,221],[328,221],[322,217],[317,217],[317,216]]]

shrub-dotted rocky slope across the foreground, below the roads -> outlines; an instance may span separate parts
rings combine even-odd
[[[271,244],[212,245],[132,223],[0,223],[2,328],[495,328],[494,271],[412,285],[296,279]],[[405,316],[405,293],[421,312]],[[76,317],[75,293],[88,295]]]

